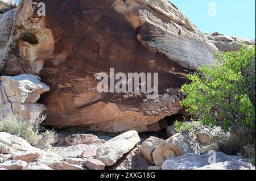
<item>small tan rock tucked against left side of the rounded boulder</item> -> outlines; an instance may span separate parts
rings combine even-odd
[[[142,152],[143,156],[148,161],[150,161],[150,163],[152,165],[155,165],[155,162],[154,162],[154,159],[153,159],[153,155],[152,155],[153,151],[155,150],[156,146],[162,144],[163,141],[164,141],[163,139],[151,136],[151,137],[147,138],[147,140],[145,140],[142,143],[141,152]]]

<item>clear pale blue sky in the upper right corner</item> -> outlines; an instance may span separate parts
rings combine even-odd
[[[18,2],[18,0],[16,0]],[[171,0],[204,33],[255,39],[255,0]],[[209,3],[216,16],[209,16]]]

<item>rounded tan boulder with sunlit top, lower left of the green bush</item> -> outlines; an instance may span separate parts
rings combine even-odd
[[[156,146],[152,153],[155,165],[162,165],[162,163],[176,155],[183,155],[186,153],[200,153],[200,144],[195,134],[191,132],[177,133],[174,136],[163,141],[159,146]]]

